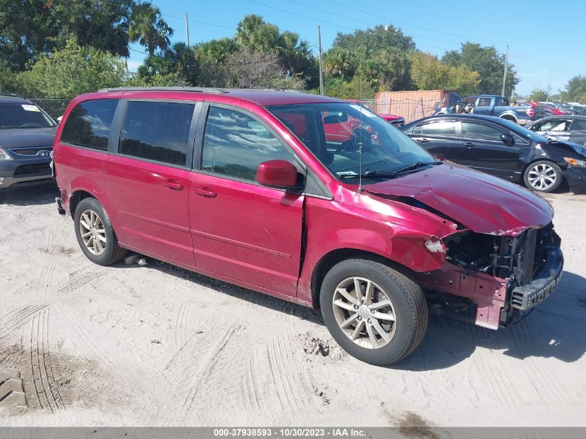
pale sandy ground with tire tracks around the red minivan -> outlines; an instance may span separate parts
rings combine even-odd
[[[0,194],[0,425],[586,425],[586,196],[547,197],[566,258],[551,298],[498,332],[431,316],[393,368],[347,356],[317,311],[90,263],[55,196]]]

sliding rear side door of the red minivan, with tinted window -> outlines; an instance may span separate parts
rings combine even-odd
[[[137,251],[193,266],[187,163],[195,103],[130,101],[118,155],[105,156],[105,189],[120,238]],[[195,124],[193,124],[195,127]]]

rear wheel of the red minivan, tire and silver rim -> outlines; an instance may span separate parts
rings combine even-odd
[[[76,237],[87,259],[98,265],[110,265],[126,255],[112,228],[110,217],[95,198],[84,198],[74,214]]]

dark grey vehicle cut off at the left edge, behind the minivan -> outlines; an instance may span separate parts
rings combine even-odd
[[[19,96],[0,96],[0,190],[51,181],[57,123]]]

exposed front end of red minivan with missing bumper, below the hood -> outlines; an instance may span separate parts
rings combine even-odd
[[[515,236],[465,230],[443,241],[443,268],[417,280],[440,311],[476,325],[497,329],[517,321],[560,281],[563,256],[551,223]]]

